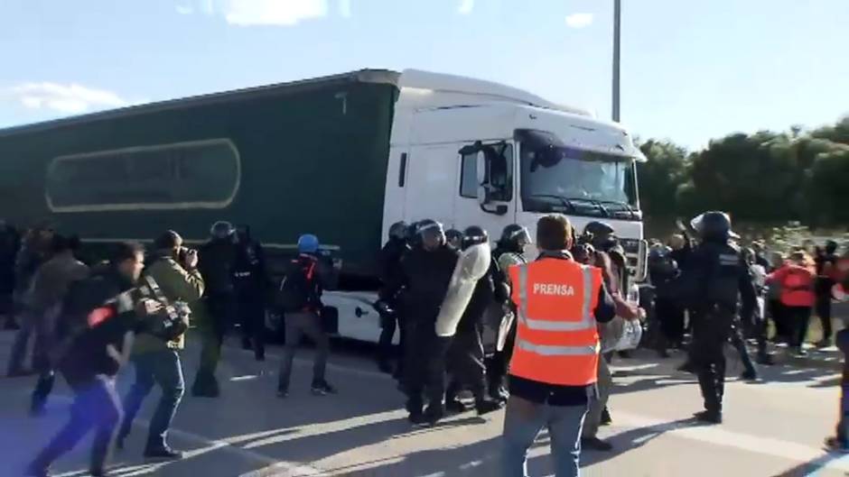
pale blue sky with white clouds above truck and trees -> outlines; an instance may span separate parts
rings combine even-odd
[[[623,0],[622,121],[695,148],[849,114],[849,1]],[[0,126],[361,68],[611,109],[612,0],[0,0]]]

